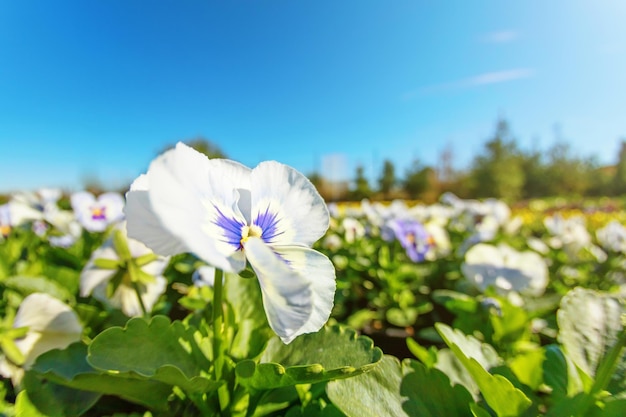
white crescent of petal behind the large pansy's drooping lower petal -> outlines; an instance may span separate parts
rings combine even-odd
[[[303,246],[272,247],[289,268],[311,285],[313,310],[298,334],[314,333],[328,321],[335,299],[335,267],[325,255]]]

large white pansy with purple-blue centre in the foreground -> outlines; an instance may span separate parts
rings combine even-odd
[[[250,169],[179,143],[126,197],[129,236],[156,253],[192,252],[235,273],[249,262],[268,322],[284,343],[328,320],[335,271],[311,249],[328,229],[328,209],[298,171],[274,161]]]

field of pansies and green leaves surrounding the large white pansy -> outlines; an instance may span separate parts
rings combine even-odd
[[[255,280],[227,274],[227,400],[201,325],[215,324],[213,270],[129,239],[123,206],[115,193],[56,190],[1,206],[4,415],[626,409],[626,228],[615,201],[331,204],[315,248],[332,260],[337,290],[318,333],[282,344],[254,307]]]

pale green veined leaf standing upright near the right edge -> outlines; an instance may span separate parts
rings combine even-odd
[[[580,287],[561,300],[557,312],[559,341],[567,356],[587,375],[595,376],[602,357],[616,343],[623,313],[623,306],[615,298]],[[624,360],[622,355],[622,364]]]

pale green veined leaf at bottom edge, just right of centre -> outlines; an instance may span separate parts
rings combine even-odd
[[[329,382],[328,398],[348,417],[401,417],[402,366],[397,358],[385,355],[371,371],[354,378]]]

